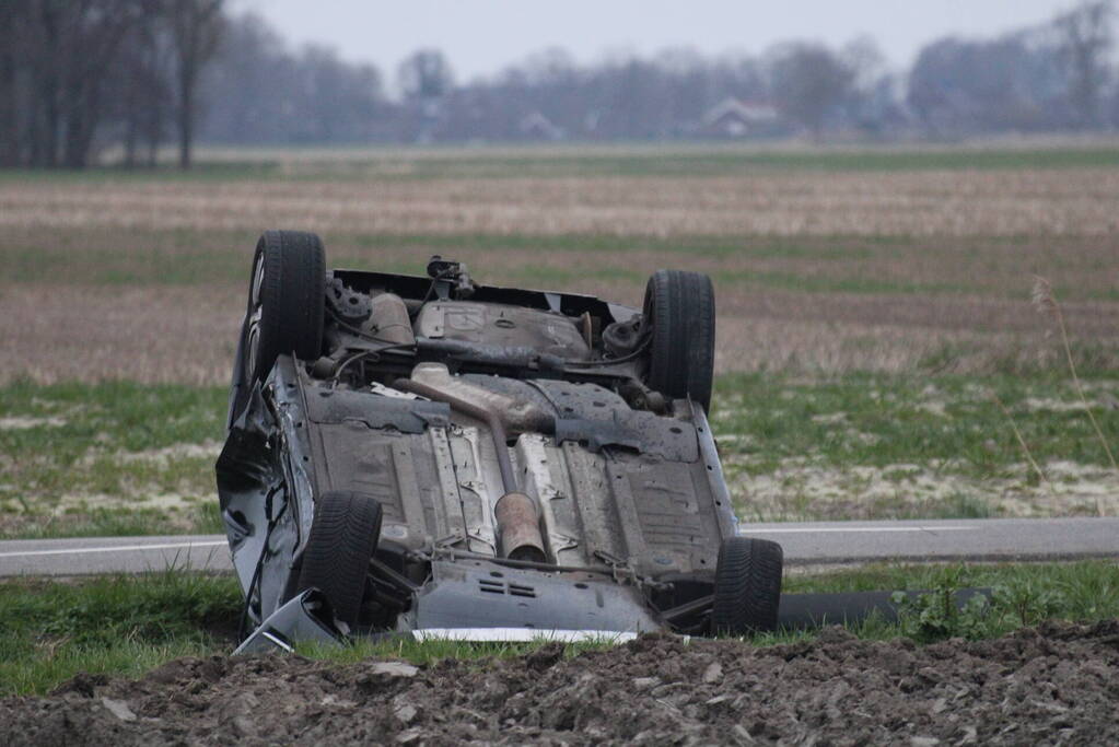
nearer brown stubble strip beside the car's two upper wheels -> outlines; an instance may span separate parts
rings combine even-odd
[[[583,290],[619,295],[619,287],[605,284]],[[639,293],[633,284],[621,290],[628,297]],[[40,382],[120,378],[225,384],[242,294],[239,285],[3,291],[0,381],[27,377]],[[1052,341],[1036,333],[962,329],[943,311],[944,302],[934,299],[841,299],[833,308],[839,310],[836,314],[829,314],[826,300],[816,303],[810,297],[814,303],[798,304],[798,294],[723,293],[718,371],[989,372],[1061,361]],[[909,314],[880,316],[891,305]],[[982,303],[971,308],[981,309]],[[922,312],[928,314],[924,320]],[[1112,351],[1119,348],[1113,337],[1110,340]]]

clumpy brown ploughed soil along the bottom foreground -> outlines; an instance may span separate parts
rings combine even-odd
[[[918,647],[648,636],[426,668],[185,659],[0,701],[10,745],[1117,744],[1119,621]]]

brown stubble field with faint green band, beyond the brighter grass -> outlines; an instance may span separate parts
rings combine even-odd
[[[222,384],[256,233],[318,230],[331,264],[637,304],[658,267],[711,273],[721,371],[989,371],[1072,347],[1119,358],[1119,170],[741,177],[0,181],[0,380]],[[536,237],[535,239],[533,237]],[[1087,352],[1084,352],[1087,351]]]

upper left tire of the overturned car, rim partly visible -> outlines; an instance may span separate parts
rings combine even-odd
[[[322,352],[326,252],[314,234],[266,230],[256,242],[248,281],[243,370],[246,381],[267,378],[276,357]]]

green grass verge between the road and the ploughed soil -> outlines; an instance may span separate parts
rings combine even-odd
[[[873,566],[821,576],[790,577],[786,592],[933,589],[946,578],[958,586],[1005,589],[985,617],[981,636],[996,636],[1042,620],[1091,623],[1119,616],[1119,566],[1075,564],[899,567]],[[171,659],[228,654],[241,611],[236,581],[227,576],[175,569],[139,577],[74,584],[0,584],[0,696],[45,693],[78,672],[138,677]],[[888,640],[903,625],[871,620],[852,625],[856,635]],[[812,632],[756,636],[755,645],[811,640]],[[338,664],[396,659],[430,664],[443,659],[479,660],[527,653],[542,643],[472,644],[452,641],[358,641],[350,646],[301,644],[301,655]],[[573,656],[605,642],[567,646]]]

